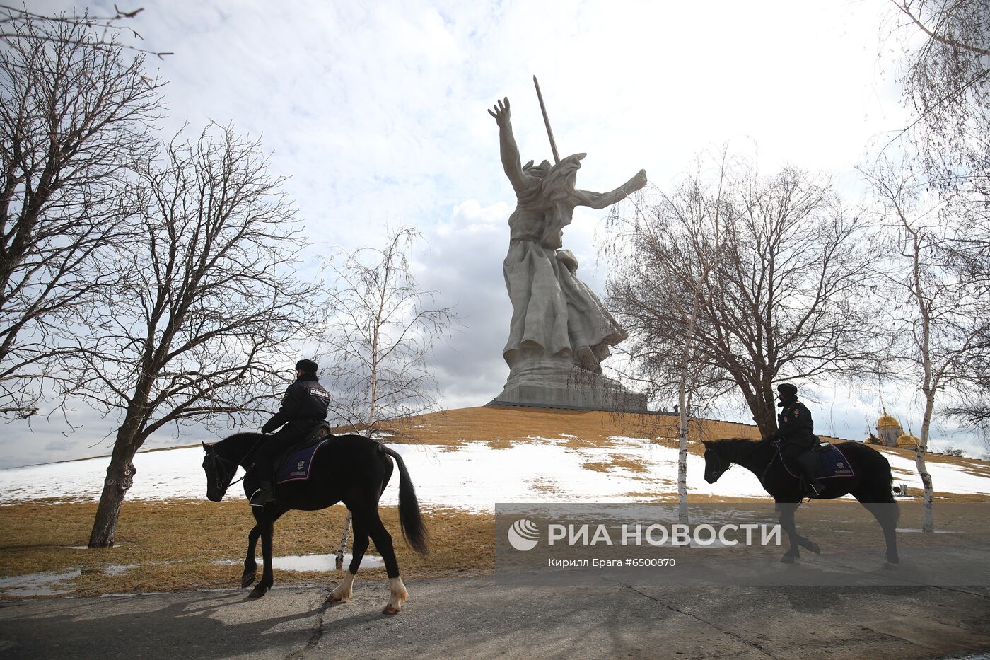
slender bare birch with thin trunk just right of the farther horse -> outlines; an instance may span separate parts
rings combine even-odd
[[[938,195],[928,179],[910,168],[881,160],[865,171],[881,203],[881,221],[889,230],[880,263],[885,297],[893,325],[888,328],[890,359],[905,366],[903,376],[922,393],[921,437],[915,463],[924,495],[923,531],[935,531],[932,476],[925,456],[936,401],[946,389],[970,382],[974,362],[987,364],[990,354],[981,342],[990,321],[985,302],[973,294],[972,282],[951,268],[946,246],[959,224],[940,213]]]

